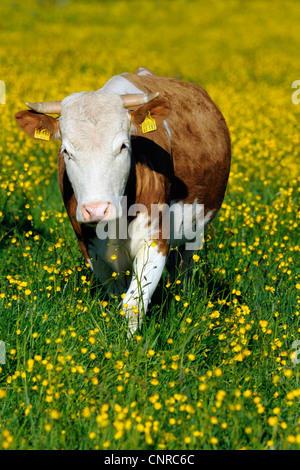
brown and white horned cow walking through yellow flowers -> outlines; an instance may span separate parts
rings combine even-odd
[[[178,263],[189,265],[195,224],[205,229],[221,207],[231,161],[225,119],[201,86],[145,67],[97,91],[26,105],[17,124],[32,138],[61,141],[59,186],[79,246],[108,292],[123,294],[133,334],[164,268],[174,275]],[[174,208],[172,223],[165,208]],[[130,228],[125,236],[120,226]]]

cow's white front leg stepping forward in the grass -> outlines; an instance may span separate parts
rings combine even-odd
[[[166,244],[161,241],[140,243],[133,262],[132,281],[123,299],[123,310],[131,334],[138,328],[160,281],[166,264],[166,251]]]

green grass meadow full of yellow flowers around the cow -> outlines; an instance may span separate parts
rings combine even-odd
[[[299,449],[300,7],[284,5],[1,3],[3,449]],[[57,145],[13,116],[140,65],[207,89],[233,160],[190,282],[165,273],[128,341],[67,220]]]

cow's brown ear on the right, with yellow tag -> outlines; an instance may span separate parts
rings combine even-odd
[[[170,111],[170,103],[159,98],[144,104],[135,111],[130,111],[133,131],[142,129],[143,132],[150,132],[151,127],[157,128],[167,118]]]

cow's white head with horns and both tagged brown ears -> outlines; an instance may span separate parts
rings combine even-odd
[[[26,103],[31,110],[16,114],[18,125],[30,137],[62,141],[61,152],[78,203],[78,222],[97,223],[121,215],[131,165],[131,135],[149,112],[158,126],[170,110],[157,96],[81,92],[62,101]]]

